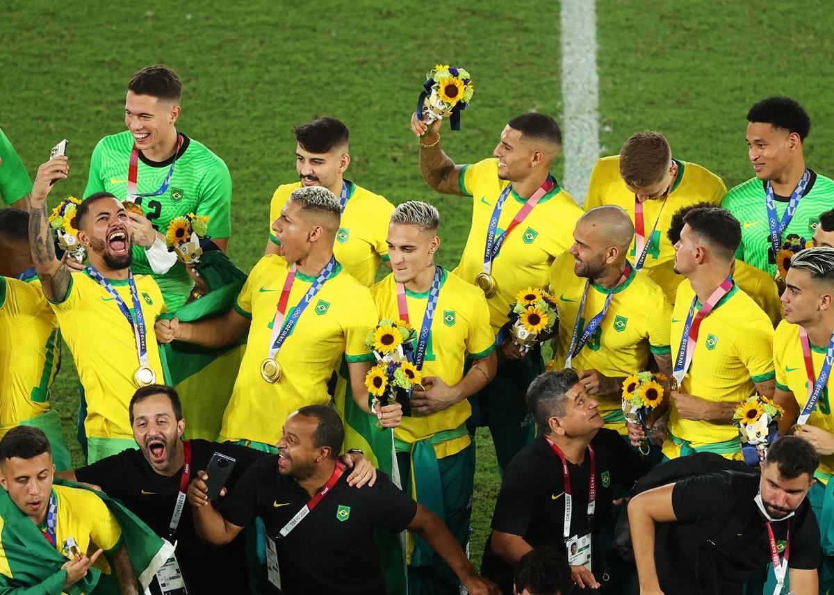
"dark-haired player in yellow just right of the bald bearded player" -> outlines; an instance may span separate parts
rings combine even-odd
[[[709,451],[741,460],[738,429],[731,424],[736,406],[756,391],[773,396],[773,326],[732,282],[740,241],[739,222],[713,207],[691,210],[675,245],[675,270],[686,281],[678,285],[671,319],[678,387],[671,391],[663,444],[670,459]],[[629,435],[636,445],[643,432],[629,424]]]

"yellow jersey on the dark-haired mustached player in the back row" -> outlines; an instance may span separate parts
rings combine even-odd
[[[379,263],[388,260],[388,225],[394,205],[384,196],[374,194],[344,180],[349,187],[349,198],[339,222],[339,233],[333,245],[333,253],[349,275],[366,287],[374,285]],[[272,224],[281,216],[293,190],[302,188],[301,182],[284,184],[275,190],[269,204],[269,240],[280,244]],[[337,199],[339,196],[336,197]]]

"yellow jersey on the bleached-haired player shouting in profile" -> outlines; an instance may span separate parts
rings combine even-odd
[[[279,381],[261,377],[261,362],[269,357],[275,311],[289,265],[282,256],[266,255],[249,273],[234,308],[252,320],[246,353],[240,362],[229,405],[223,416],[221,439],[274,444],[290,413],[305,405],[327,405],[327,384],[339,361],[373,361],[365,345],[378,318],[370,290],[337,265],[299,316],[275,359]],[[289,320],[315,278],[295,274],[289,292]]]

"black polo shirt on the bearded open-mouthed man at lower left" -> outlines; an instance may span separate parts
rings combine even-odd
[[[236,462],[227,482],[229,494],[249,466],[266,456],[246,446],[229,443],[191,441],[191,477],[204,471],[215,452],[233,457]],[[123,502],[159,537],[177,542],[177,561],[191,593],[249,593],[249,569],[244,553],[244,536],[225,547],[209,546],[197,537],[191,507],[186,502],[177,532],[168,537],[168,526],[177,502],[182,468],[172,477],[153,471],[142,451],[128,449],[90,466],[76,469],[79,482],[94,483],[109,496]],[[228,497],[228,496],[227,496]]]

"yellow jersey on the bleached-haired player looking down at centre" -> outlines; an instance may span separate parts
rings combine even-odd
[[[422,376],[437,376],[447,385],[455,386],[464,377],[465,359],[480,360],[490,355],[495,349],[495,337],[490,329],[490,309],[483,291],[445,269],[440,284]],[[393,274],[374,285],[370,293],[380,319],[399,318],[397,285]],[[419,335],[429,303],[429,292],[405,290],[405,301],[409,321]],[[403,417],[399,427],[394,429],[394,436],[409,443],[425,440],[439,431],[455,430],[471,414],[468,399],[429,415],[414,412],[410,417]],[[438,458],[454,455],[470,444],[469,435],[463,436],[450,443],[435,445],[435,453]]]

